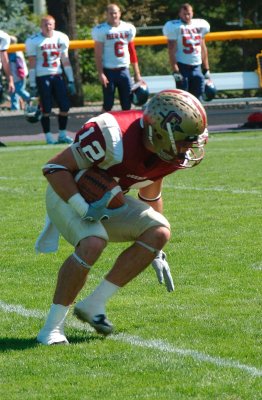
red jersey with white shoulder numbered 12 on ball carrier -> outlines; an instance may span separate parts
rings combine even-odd
[[[147,150],[143,144],[142,111],[116,111],[88,120],[77,132],[83,156],[108,171],[122,190],[141,188],[181,169]]]

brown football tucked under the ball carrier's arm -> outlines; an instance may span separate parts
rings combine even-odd
[[[81,195],[91,204],[100,200],[110,191],[111,196],[107,208],[119,208],[125,204],[125,197],[116,180],[101,168],[83,169],[75,176]]]

